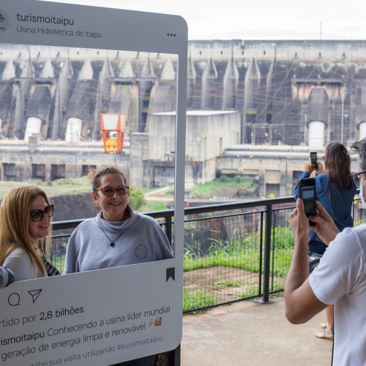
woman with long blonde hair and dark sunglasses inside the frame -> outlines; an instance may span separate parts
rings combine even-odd
[[[0,207],[0,265],[15,281],[59,274],[48,261],[54,208],[43,189],[10,189]]]

